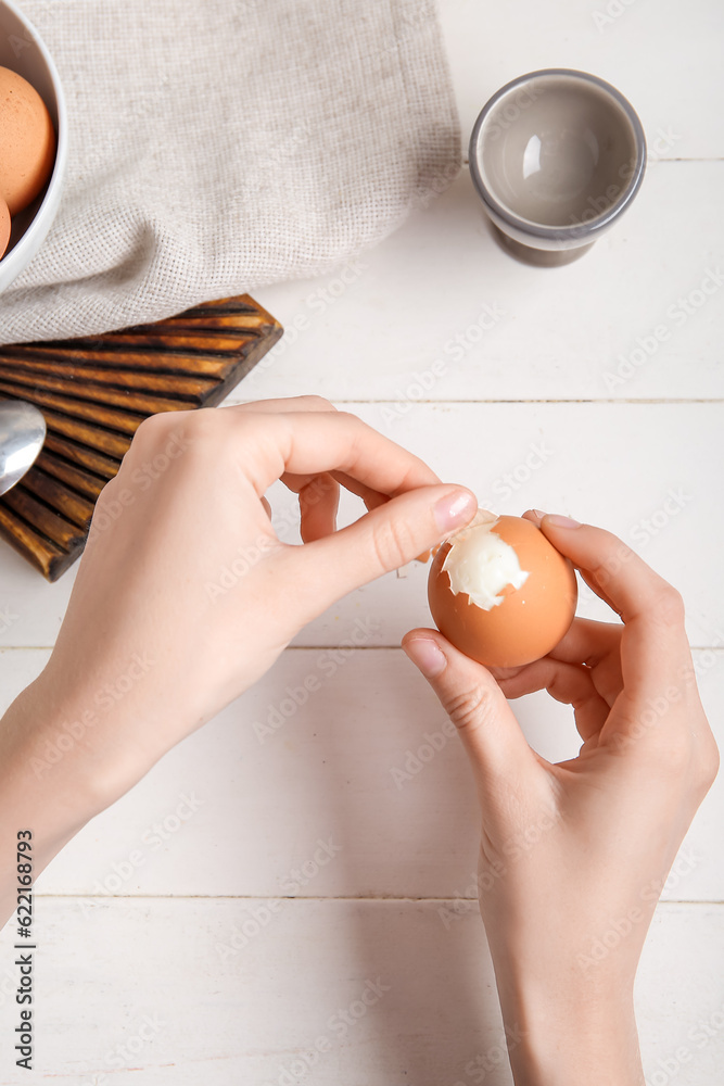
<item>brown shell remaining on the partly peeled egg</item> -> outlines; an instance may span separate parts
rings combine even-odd
[[[494,531],[516,551],[529,572],[520,589],[508,585],[501,604],[483,610],[465,592],[454,593],[443,563],[455,538],[435,555],[428,580],[428,599],[440,632],[479,664],[515,668],[532,664],[554,648],[575,613],[577,585],[573,566],[543,532],[520,517],[499,517]]]

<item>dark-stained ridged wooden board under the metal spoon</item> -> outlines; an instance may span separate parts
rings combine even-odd
[[[215,406],[281,334],[242,294],[105,336],[0,346],[0,396],[36,404],[48,425],[35,465],[0,497],[0,534],[56,580],[143,419]]]

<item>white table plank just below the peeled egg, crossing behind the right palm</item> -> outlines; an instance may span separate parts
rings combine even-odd
[[[342,634],[364,645],[361,623]],[[45,656],[15,652],[12,667],[0,667],[3,705]],[[724,649],[694,658],[724,747]],[[312,692],[305,680],[314,680]],[[577,754],[568,706],[544,692],[516,700],[513,710],[543,757]],[[199,806],[179,819],[182,794]],[[161,839],[148,832],[154,824],[166,824]],[[724,900],[722,824],[724,776],[694,821],[666,898]],[[320,841],[331,841],[332,855],[293,876]],[[96,886],[130,896],[471,898],[478,843],[465,753],[402,649],[294,648],[86,826],[38,885],[81,895]],[[131,851],[137,861],[118,883],[113,863]]]

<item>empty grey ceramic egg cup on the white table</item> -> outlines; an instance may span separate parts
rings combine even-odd
[[[630,102],[569,68],[507,84],[470,138],[470,173],[498,241],[530,264],[582,256],[631,205],[645,168],[646,137]]]

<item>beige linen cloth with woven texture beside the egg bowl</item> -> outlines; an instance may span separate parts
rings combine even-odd
[[[325,272],[455,177],[430,0],[18,0],[71,153],[0,342],[84,336]]]

